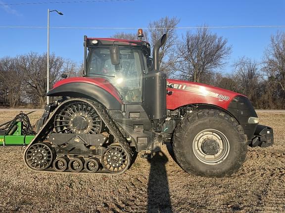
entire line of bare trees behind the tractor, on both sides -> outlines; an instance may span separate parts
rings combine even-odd
[[[207,26],[178,36],[175,27],[180,20],[163,17],[149,23],[144,40],[151,46],[164,33],[167,41],[161,48],[160,70],[169,78],[206,83],[246,95],[255,108],[285,108],[285,33],[272,35],[264,49],[263,59],[246,56],[222,72],[233,47],[223,36]],[[134,33],[116,33],[111,37],[135,39]],[[82,75],[82,65],[52,54],[50,85],[60,79]],[[47,55],[28,53],[0,59],[0,106],[45,106],[47,94]]]

